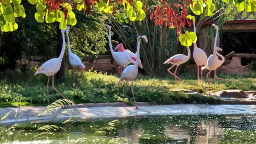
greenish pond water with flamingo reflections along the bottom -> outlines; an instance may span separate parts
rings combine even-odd
[[[131,143],[256,143],[256,116],[254,115],[159,115],[116,118],[117,129],[107,130],[106,136],[94,135],[113,119],[90,119],[86,122],[50,123],[60,125],[54,135],[40,135],[37,127],[43,123],[22,124],[15,134],[1,134],[2,143],[68,143],[87,137],[99,143],[106,137],[127,137]],[[44,123],[45,124],[45,123]],[[49,123],[47,123],[49,124]]]

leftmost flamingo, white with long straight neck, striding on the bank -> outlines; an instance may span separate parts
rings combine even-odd
[[[67,28],[68,29],[68,28]],[[47,99],[48,99],[48,104],[49,104],[49,79],[50,76],[53,76],[53,83],[51,85],[51,87],[57,92],[59,93],[64,99],[66,99],[55,87],[54,87],[54,75],[60,70],[61,67],[61,61],[62,58],[64,56],[64,52],[65,52],[65,47],[66,47],[66,43],[65,43],[65,31],[66,29],[61,29],[61,34],[62,34],[62,50],[60,53],[60,56],[58,58],[53,58],[50,59],[49,61],[46,61],[45,63],[43,63],[43,65],[41,65],[41,67],[38,68],[38,70],[36,71],[36,73],[34,75],[37,74],[45,74],[46,76],[48,76],[48,82],[47,82]]]

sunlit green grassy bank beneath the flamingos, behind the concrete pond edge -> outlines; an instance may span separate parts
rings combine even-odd
[[[43,74],[34,75],[35,70],[26,73],[15,71],[13,75],[0,77],[0,106],[16,105],[45,105],[46,104],[46,82],[47,77]],[[173,89],[184,88],[196,91],[196,76],[184,76],[181,82],[175,82],[171,75],[165,78],[138,76],[134,82],[134,92],[137,101],[147,101],[152,104],[179,104],[179,103],[208,103],[218,104],[219,99],[202,97],[199,94],[185,94],[183,92],[172,92]],[[219,75],[232,82],[217,80],[216,91],[224,89],[242,89],[251,91],[256,89],[256,74],[247,76]],[[111,103],[122,101],[123,88],[117,87],[119,78],[97,71],[86,72],[83,75],[77,73],[75,83],[72,84],[72,73],[67,71],[66,80],[63,83],[55,82],[55,87],[67,98],[79,103]],[[205,80],[206,82],[206,80]],[[208,86],[207,83],[204,83]],[[125,87],[125,101],[133,103],[131,87]],[[213,90],[213,87],[211,88]],[[202,88],[200,88],[202,91]],[[50,85],[50,101],[60,99]]]

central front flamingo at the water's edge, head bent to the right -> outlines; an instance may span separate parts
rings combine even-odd
[[[145,39],[146,40],[146,43],[148,43],[148,38],[146,35],[143,35],[143,36],[139,36],[137,38],[137,57],[139,57],[139,44],[141,44],[141,39]],[[134,99],[134,104],[136,106],[136,109],[138,109],[138,106],[136,104],[136,100],[135,100],[135,96],[134,96],[134,93],[133,93],[133,80],[136,79],[137,75],[138,75],[138,65],[139,65],[139,58],[136,59],[136,63],[135,64],[132,64],[132,65],[128,65],[124,71],[123,71],[123,74],[121,75],[121,79],[119,81],[119,84],[125,80],[126,82],[129,82],[131,81],[132,84],[131,84],[131,91],[132,91],[132,96],[133,96],[133,99]],[[123,88],[123,92],[124,92],[124,88]],[[123,97],[123,105],[124,105],[124,97]]]

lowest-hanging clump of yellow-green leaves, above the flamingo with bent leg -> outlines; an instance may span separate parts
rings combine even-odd
[[[179,35],[179,41],[183,46],[190,46],[197,40],[196,34],[194,32],[186,31],[185,34]]]

